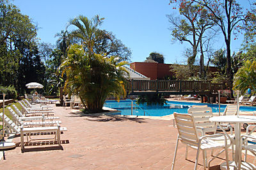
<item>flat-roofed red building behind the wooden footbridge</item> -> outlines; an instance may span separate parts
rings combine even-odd
[[[139,72],[147,77],[150,77],[150,80],[164,79],[164,77],[172,77],[173,72],[170,72],[170,66],[172,64],[163,64],[163,63],[147,63],[147,62],[134,62],[131,63],[130,68]],[[209,66],[210,72],[216,72],[217,68],[214,66]]]

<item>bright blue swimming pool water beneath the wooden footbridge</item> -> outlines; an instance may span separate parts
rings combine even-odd
[[[134,101],[135,102],[135,101]],[[219,112],[219,105],[218,104],[198,104],[198,103],[192,103],[192,102],[168,102],[168,104],[161,105],[154,105],[154,106],[147,106],[139,105],[136,106],[133,104],[132,107],[132,114],[137,116],[143,116],[145,112],[145,116],[166,116],[169,114],[173,114],[173,112],[180,112],[180,113],[186,113],[188,112],[188,108],[192,105],[208,105],[212,108],[212,112]],[[116,102],[113,100],[108,100],[104,104],[105,107],[110,107],[113,109],[117,109],[121,111],[122,115],[131,115],[131,101],[130,100],[121,100],[120,102]],[[220,112],[223,112],[225,110],[226,105],[220,106]],[[256,111],[256,107],[250,107],[250,106],[241,106],[240,111]]]

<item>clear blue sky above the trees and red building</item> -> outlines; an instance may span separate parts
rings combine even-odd
[[[132,50],[132,61],[144,61],[150,52],[160,52],[165,63],[182,63],[187,43],[172,42],[167,14],[175,13],[168,0],[15,0],[24,15],[40,27],[38,38],[55,44],[56,33],[65,29],[68,19],[78,15],[104,17],[101,29],[113,32]],[[225,47],[220,35],[215,48]],[[232,42],[232,51],[239,50],[241,38]]]

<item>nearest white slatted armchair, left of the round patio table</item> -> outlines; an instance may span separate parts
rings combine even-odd
[[[225,134],[203,135],[200,137],[198,135],[198,130],[196,129],[195,120],[191,114],[179,114],[177,112],[174,112],[173,115],[177,124],[178,137],[177,137],[177,143],[176,143],[175,153],[173,157],[172,169],[174,169],[174,166],[175,166],[175,159],[177,155],[179,141],[183,144],[186,144],[186,146],[189,146],[197,150],[194,169],[197,169],[200,150],[202,150],[202,153],[203,153],[204,169],[205,167],[210,167],[210,163],[212,162],[212,160],[218,157],[218,155],[220,155],[223,151],[226,152],[227,169],[229,169],[228,147],[230,146],[230,144],[227,144],[227,137]],[[220,138],[220,137],[223,137],[224,144],[219,143],[218,141],[215,140],[216,138]],[[213,150],[216,148],[223,148],[224,150],[221,150],[220,153],[212,157],[207,164],[205,159],[205,156],[206,156],[205,151]],[[188,157],[188,153],[186,153],[186,157]]]

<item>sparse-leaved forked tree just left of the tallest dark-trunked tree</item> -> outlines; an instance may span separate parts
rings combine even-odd
[[[204,34],[207,29],[213,28],[214,23],[209,20],[208,11],[200,5],[195,5],[190,1],[179,0],[170,1],[178,4],[179,13],[182,17],[167,15],[169,22],[172,24],[172,36],[174,40],[188,42],[192,46],[193,54],[188,58],[188,65],[193,70],[198,47],[200,47],[200,77],[204,72]]]

